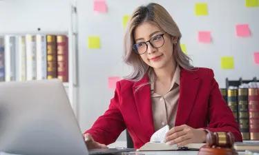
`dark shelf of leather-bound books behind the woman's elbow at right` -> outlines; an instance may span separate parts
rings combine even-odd
[[[226,87],[220,88],[222,97],[231,108],[244,142],[258,143],[258,77],[233,80],[226,78]]]

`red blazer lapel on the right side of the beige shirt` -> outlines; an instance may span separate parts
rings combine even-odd
[[[200,86],[200,78],[194,72],[181,68],[180,96],[175,126],[186,124],[195,103],[196,94]]]

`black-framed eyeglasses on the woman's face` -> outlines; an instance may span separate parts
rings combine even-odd
[[[164,45],[164,34],[159,34],[146,42],[135,43],[132,48],[137,54],[144,54],[148,50],[148,42],[153,48],[160,48]]]

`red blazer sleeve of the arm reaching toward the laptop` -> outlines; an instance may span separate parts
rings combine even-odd
[[[98,143],[109,145],[114,143],[119,135],[126,129],[124,118],[119,110],[120,103],[120,84],[116,83],[115,96],[111,99],[108,110],[99,116],[93,126],[84,132],[93,136]]]

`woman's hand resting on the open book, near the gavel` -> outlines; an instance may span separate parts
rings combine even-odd
[[[189,143],[204,143],[207,131],[203,129],[193,129],[188,125],[173,127],[166,133],[166,145],[178,145],[178,147]]]

